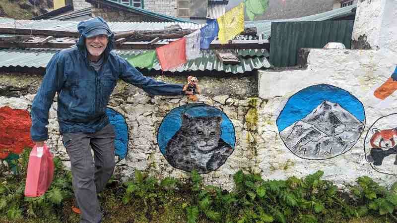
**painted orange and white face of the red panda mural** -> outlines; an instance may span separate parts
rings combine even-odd
[[[370,143],[373,148],[389,149],[396,145],[397,129],[372,129],[374,133],[371,137]]]

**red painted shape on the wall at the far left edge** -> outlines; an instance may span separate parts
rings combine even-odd
[[[23,148],[33,147],[30,138],[32,119],[26,110],[0,108],[0,159],[9,153],[21,154]]]

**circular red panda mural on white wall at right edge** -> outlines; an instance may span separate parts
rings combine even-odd
[[[366,160],[382,173],[397,175],[397,113],[376,120],[364,140]]]

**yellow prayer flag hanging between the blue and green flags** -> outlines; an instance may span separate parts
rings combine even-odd
[[[244,2],[241,2],[216,20],[219,24],[219,42],[226,44],[244,31]]]

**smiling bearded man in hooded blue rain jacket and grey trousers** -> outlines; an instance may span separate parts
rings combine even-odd
[[[48,112],[58,93],[58,122],[71,163],[75,211],[81,212],[82,223],[98,223],[102,217],[97,193],[115,167],[115,131],[106,106],[117,80],[151,95],[181,95],[183,85],[145,77],[112,52],[113,33],[102,18],[82,21],[77,29],[76,46],[56,53],[47,65],[32,104],[31,136],[38,147],[48,139]]]

